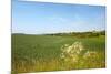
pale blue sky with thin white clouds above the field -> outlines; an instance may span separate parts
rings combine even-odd
[[[105,30],[105,7],[12,0],[12,33]]]

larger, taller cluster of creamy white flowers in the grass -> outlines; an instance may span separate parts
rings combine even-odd
[[[84,50],[81,42],[74,42],[72,45],[64,44],[61,47],[60,57],[64,61],[78,62],[80,53]]]

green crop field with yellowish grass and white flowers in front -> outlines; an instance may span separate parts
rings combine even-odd
[[[75,38],[71,35],[12,34],[12,72],[102,67],[105,67],[104,35]]]

